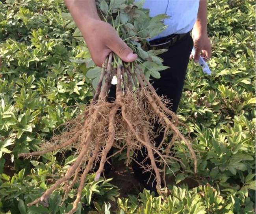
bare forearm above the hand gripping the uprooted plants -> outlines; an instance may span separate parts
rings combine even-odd
[[[100,20],[95,0],[64,0],[78,28],[83,31],[91,20]]]

